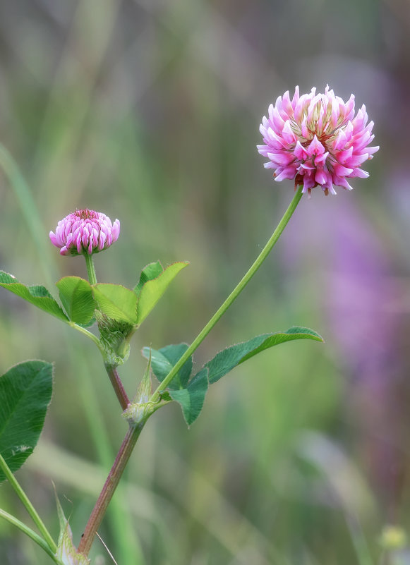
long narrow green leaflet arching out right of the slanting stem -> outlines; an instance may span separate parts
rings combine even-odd
[[[212,360],[205,363],[205,367],[209,369],[210,384],[217,382],[217,380],[226,375],[227,372],[231,371],[236,365],[240,365],[240,363],[243,363],[243,361],[250,359],[261,351],[283,344],[285,341],[293,341],[294,339],[323,341],[323,338],[316,332],[313,332],[313,329],[306,327],[291,327],[287,332],[256,336],[249,341],[244,341],[242,344],[236,344],[220,351]]]

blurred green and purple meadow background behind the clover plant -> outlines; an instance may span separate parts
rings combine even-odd
[[[78,207],[121,220],[100,281],[191,262],[133,338],[129,394],[140,348],[191,341],[291,200],[255,149],[268,104],[329,83],[375,121],[370,178],[303,198],[196,360],[294,324],[326,343],[236,368],[190,430],[177,405],[150,419],[100,531],[119,565],[393,563],[380,533],[410,528],[409,37],[408,0],[0,3],[0,142],[42,221],[33,241],[20,179],[1,171],[0,268],[85,277],[48,241]],[[18,480],[56,535],[54,481],[78,542],[126,423],[91,341],[1,290],[1,372],[29,358],[55,363],[55,389]],[[6,484],[0,506],[26,520]],[[92,555],[111,562],[99,540]],[[5,522],[0,556],[49,562]]]

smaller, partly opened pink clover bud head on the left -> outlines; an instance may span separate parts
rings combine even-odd
[[[50,231],[50,239],[60,248],[60,255],[92,255],[118,239],[119,227],[118,219],[112,224],[102,212],[85,208],[60,220],[56,233]]]

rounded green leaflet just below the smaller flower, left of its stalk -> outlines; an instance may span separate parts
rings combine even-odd
[[[97,308],[90,283],[80,277],[64,277],[56,283],[56,287],[70,320],[76,324],[88,324]]]

